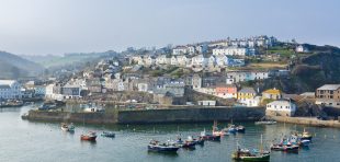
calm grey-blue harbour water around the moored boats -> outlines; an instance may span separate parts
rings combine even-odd
[[[205,142],[195,150],[180,149],[178,154],[148,153],[147,143],[150,139],[174,139],[178,131],[183,138],[199,135],[204,128],[211,129],[212,124],[182,125],[76,125],[76,132],[64,132],[58,123],[38,123],[22,120],[21,115],[31,107],[0,109],[0,161],[83,161],[83,162],[227,162],[238,140],[242,147],[259,147],[261,134],[267,143],[275,137],[292,130],[303,130],[302,126],[277,124],[272,126],[254,126],[243,123],[246,134],[228,136],[220,142]],[[226,124],[220,124],[225,126]],[[340,129],[307,129],[316,135],[309,149],[298,154],[272,152],[271,161],[340,161]],[[116,131],[116,138],[99,137],[95,143],[80,141],[82,132],[95,130]],[[154,131],[155,130],[155,131]]]

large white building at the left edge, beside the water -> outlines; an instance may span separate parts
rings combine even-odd
[[[0,100],[21,99],[21,84],[15,80],[0,80]]]

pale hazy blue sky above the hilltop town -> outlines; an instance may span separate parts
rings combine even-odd
[[[340,46],[339,0],[0,0],[0,50],[63,55],[226,37]]]

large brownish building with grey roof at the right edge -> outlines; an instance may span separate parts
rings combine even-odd
[[[315,104],[340,107],[340,84],[325,84],[316,90],[315,96]]]

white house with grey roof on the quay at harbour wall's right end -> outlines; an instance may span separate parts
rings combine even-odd
[[[296,112],[296,105],[291,101],[273,101],[265,107],[265,115],[269,116],[294,116]]]

